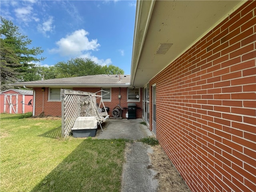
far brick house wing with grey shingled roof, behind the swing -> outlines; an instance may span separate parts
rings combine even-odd
[[[61,116],[61,89],[80,90],[86,92],[98,92],[105,90],[109,94],[103,96],[103,102],[110,108],[108,114],[112,116],[112,110],[120,105],[122,117],[126,117],[128,103],[136,103],[136,117],[142,117],[142,91],[140,88],[130,86],[130,75],[93,75],[72,78],[60,78],[50,80],[38,80],[31,82],[19,82],[15,86],[25,86],[34,90],[33,115]],[[98,94],[106,92],[98,92]],[[119,97],[120,96],[120,97]]]

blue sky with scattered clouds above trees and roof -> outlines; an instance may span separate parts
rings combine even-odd
[[[4,1],[0,14],[41,47],[51,66],[71,58],[113,64],[130,74],[136,1]],[[39,57],[39,56],[38,56]]]

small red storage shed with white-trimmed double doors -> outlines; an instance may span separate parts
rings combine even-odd
[[[0,113],[27,113],[32,112],[33,91],[10,89],[0,93]],[[31,103],[28,105],[28,103]]]

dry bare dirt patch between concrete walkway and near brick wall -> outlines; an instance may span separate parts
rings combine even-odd
[[[157,172],[159,186],[157,192],[190,192],[187,184],[180,176],[160,145],[152,146],[149,153],[153,170]]]

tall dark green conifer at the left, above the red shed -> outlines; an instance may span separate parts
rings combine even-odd
[[[1,18],[0,25],[0,83],[1,90],[10,88],[8,83],[23,81],[28,69],[35,66],[32,62],[44,60],[37,58],[44,51],[40,47],[28,48],[32,40],[18,32],[18,27],[12,21]]]

